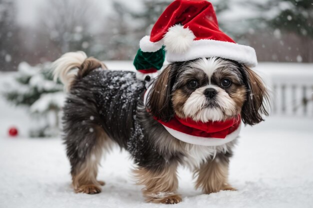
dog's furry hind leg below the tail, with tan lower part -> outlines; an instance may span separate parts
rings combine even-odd
[[[77,193],[97,194],[104,182],[97,181],[103,151],[112,140],[101,127],[101,119],[92,102],[70,95],[63,108],[63,132],[66,154],[71,166],[72,185]],[[91,97],[89,98],[89,101]]]

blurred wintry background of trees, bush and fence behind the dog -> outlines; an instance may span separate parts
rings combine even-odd
[[[40,128],[27,133],[31,137],[54,135],[64,95],[62,85],[51,80],[50,62],[65,52],[83,50],[111,69],[131,70],[140,38],[149,34],[170,2],[0,0],[3,105],[20,106],[39,123],[35,126]],[[211,2],[220,28],[256,50],[256,70],[273,92],[272,113],[312,116],[312,0]]]

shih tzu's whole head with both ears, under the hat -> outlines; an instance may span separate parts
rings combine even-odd
[[[241,114],[254,125],[267,114],[266,89],[249,68],[223,58],[176,62],[165,68],[153,83],[147,108],[168,121],[174,115],[194,121],[222,121]]]

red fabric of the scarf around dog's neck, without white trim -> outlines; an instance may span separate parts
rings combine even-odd
[[[224,139],[228,134],[234,132],[236,129],[238,129],[241,122],[240,115],[225,121],[208,121],[206,123],[200,121],[195,122],[190,118],[181,119],[177,116],[168,122],[163,122],[156,118],[154,119],[157,120],[160,124],[184,134],[196,137],[218,139]]]

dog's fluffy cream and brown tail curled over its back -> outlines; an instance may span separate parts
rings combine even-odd
[[[83,51],[68,52],[52,63],[53,80],[57,78],[64,84],[64,89],[69,91],[73,82],[86,76],[96,68],[106,69],[106,66],[93,57],[87,57]]]

